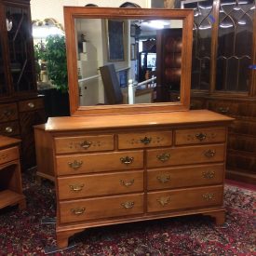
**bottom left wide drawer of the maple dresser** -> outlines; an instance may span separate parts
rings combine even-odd
[[[115,195],[60,202],[61,223],[143,213],[143,194]]]

